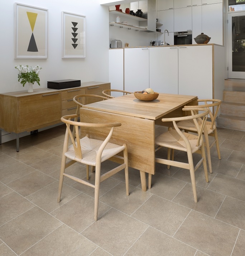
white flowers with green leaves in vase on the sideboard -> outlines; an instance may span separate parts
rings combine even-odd
[[[26,83],[32,83],[37,82],[37,84],[40,86],[40,78],[38,76],[40,70],[42,69],[39,65],[36,67],[29,67],[28,65],[19,65],[18,67],[15,66],[16,69],[18,69],[18,81],[23,84],[23,87]],[[21,81],[20,81],[21,80]]]

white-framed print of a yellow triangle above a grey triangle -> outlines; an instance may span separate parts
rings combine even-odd
[[[48,10],[14,4],[14,58],[48,58]]]

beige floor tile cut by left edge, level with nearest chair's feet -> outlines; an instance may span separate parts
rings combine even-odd
[[[35,206],[15,192],[1,197],[0,205],[0,226]]]

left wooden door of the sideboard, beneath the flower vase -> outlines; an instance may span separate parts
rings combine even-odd
[[[19,99],[19,132],[43,124],[58,121],[61,118],[61,93],[52,92],[43,95]]]

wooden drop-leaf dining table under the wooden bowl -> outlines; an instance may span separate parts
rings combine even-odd
[[[127,143],[129,166],[140,171],[141,187],[146,191],[145,173],[155,174],[155,125],[172,126],[163,123],[162,118],[185,115],[185,105],[198,105],[197,96],[159,93],[154,101],[141,101],[131,93],[84,105],[80,108],[80,122],[121,123],[114,128],[110,142]],[[104,139],[108,132],[89,128],[81,135],[88,133],[91,138]],[[110,160],[120,162],[113,157]]]

